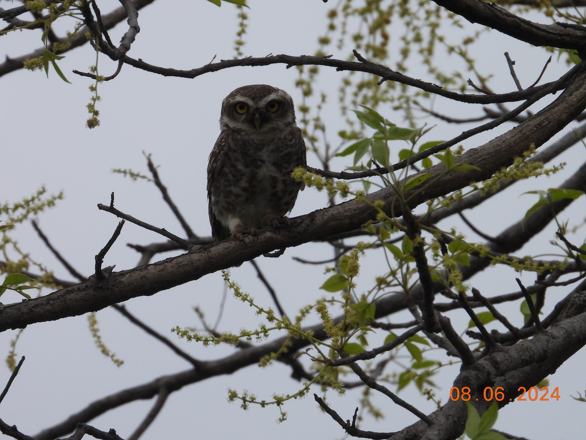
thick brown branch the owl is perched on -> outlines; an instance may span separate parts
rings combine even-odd
[[[539,147],[545,143],[585,107],[586,72],[582,68],[567,89],[545,109],[513,130],[458,157],[459,163],[475,165],[477,168],[447,172],[445,166],[440,164],[425,170],[431,174],[425,190],[414,188],[404,195],[409,207],[413,209],[430,198],[440,197],[464,188],[471,182],[489,178],[495,171],[509,166],[530,145]],[[428,185],[428,182],[432,182],[432,185]],[[389,215],[401,215],[393,188],[381,189],[367,195],[366,199],[372,203],[382,201],[383,209]],[[50,295],[5,306],[0,310],[0,330],[94,312],[132,297],[153,295],[274,249],[298,246],[324,239],[334,233],[352,231],[374,218],[375,209],[363,202],[351,200],[298,217],[292,222],[295,226],[287,230],[281,229],[279,233],[272,229],[260,231],[254,243],[245,244],[237,239],[229,239],[151,265],[114,272],[107,280],[100,281],[90,277],[84,283]],[[510,238],[512,243],[526,240],[526,235],[533,230],[532,225],[530,219],[527,219],[522,233]]]

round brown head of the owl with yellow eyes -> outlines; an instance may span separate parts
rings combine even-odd
[[[265,84],[243,86],[222,102],[220,130],[236,128],[256,133],[283,130],[295,124],[293,100],[287,92]]]

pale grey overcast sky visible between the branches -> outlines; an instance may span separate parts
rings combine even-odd
[[[104,5],[104,11],[118,5],[118,2],[111,0],[98,3]],[[322,32],[331,2],[250,0],[249,3],[251,19],[244,48],[247,55],[311,55],[315,52],[316,39]],[[12,5],[12,2],[0,0],[2,8],[10,8]],[[139,12],[141,32],[132,45],[130,56],[177,69],[205,65],[216,55],[217,59],[233,57],[236,8],[229,4],[217,8],[204,0],[173,2],[173,6],[180,5],[180,10],[169,8],[170,5],[170,2],[154,2]],[[70,20],[66,28],[72,26],[73,21]],[[112,39],[118,41],[124,31],[125,23],[122,23],[111,32]],[[1,42],[2,59],[4,55],[22,55],[40,46],[40,32],[15,32],[3,36]],[[541,50],[512,43],[496,33],[491,35],[486,43],[477,46],[475,53],[480,58],[479,69],[482,72],[495,71],[496,76],[491,84],[497,92],[515,89],[507,73],[503,56],[505,50],[509,50],[513,59],[516,59],[524,84],[533,82],[547,58]],[[346,48],[333,55],[345,58],[348,53],[349,49]],[[142,181],[132,182],[113,174],[113,168],[132,168],[148,174],[143,152],[152,153],[152,160],[159,165],[159,175],[183,215],[189,219],[197,234],[207,236],[210,227],[205,191],[206,165],[219,134],[218,119],[223,97],[245,84],[266,83],[285,89],[295,101],[300,100],[299,90],[294,85],[297,70],[285,69],[282,65],[236,67],[193,80],[158,76],[124,66],[115,80],[100,84],[102,100],[97,107],[100,110],[101,126],[88,130],[84,126],[88,117],[85,106],[90,100],[88,86],[91,81],[74,75],[71,70],[88,70],[94,59],[95,53],[89,46],[67,53],[59,65],[71,84],[64,83],[54,72],[50,72],[47,79],[42,72],[19,71],[2,77],[0,81],[0,139],[4,177],[4,191],[0,194],[2,201],[18,201],[29,197],[41,185],[45,185],[50,194],[63,190],[64,200],[58,203],[57,208],[40,214],[39,225],[56,248],[79,272],[87,276],[93,272],[94,256],[103,248],[118,223],[113,215],[98,211],[96,207],[98,203],[108,204],[111,192],[115,192],[115,205],[121,211],[182,235],[180,225],[166,208],[154,185]],[[458,66],[457,60],[453,58],[446,58],[446,62],[453,63],[454,69]],[[534,67],[536,65],[539,67]],[[427,77],[424,70],[412,67],[413,72],[408,72],[411,76],[422,79]],[[102,75],[111,75],[116,65],[101,56],[99,68]],[[565,65],[557,65],[554,59],[544,80],[555,79],[565,69]],[[333,93],[322,111],[332,139],[336,131],[342,128],[339,126],[340,112],[335,94],[339,75],[333,69],[322,69],[319,84],[323,90]],[[482,112],[480,108],[471,110],[461,104],[440,99],[435,102],[435,110],[460,112],[452,113],[452,116],[462,116],[462,112],[466,112],[464,116],[476,116]],[[389,119],[397,115],[391,109],[386,111]],[[399,125],[403,122],[395,121]],[[499,133],[511,127],[499,128]],[[444,140],[456,136],[462,130],[464,127],[440,123],[425,140]],[[473,138],[466,143],[466,147],[480,145],[488,136],[495,136],[495,133]],[[580,164],[583,157],[583,150],[574,148],[574,151],[568,152],[558,161],[567,161],[568,169],[573,170],[572,167]],[[311,155],[308,163],[319,166]],[[470,218],[489,233],[498,233],[510,222],[518,220],[536,201],[527,195],[519,197],[520,192],[555,187],[561,180],[563,178],[554,177],[539,183],[531,181],[516,185],[506,195],[491,201],[488,211],[472,212]],[[306,214],[325,207],[325,204],[326,199],[322,194],[306,189],[300,194],[291,215]],[[564,215],[582,218],[583,208],[574,207]],[[442,227],[448,229],[452,224],[455,221],[450,220]],[[537,241],[533,241],[519,255],[543,249],[543,242],[553,238],[553,231],[550,228],[542,233]],[[71,279],[29,225],[19,226],[16,237],[21,249],[30,252],[33,259],[54,269],[56,276]],[[472,234],[471,239],[479,240]],[[116,265],[115,270],[132,268],[139,256],[126,243],[161,241],[164,240],[154,233],[126,224],[121,237],[105,258],[104,266]],[[168,256],[171,254],[158,255],[156,259]],[[292,256],[319,260],[330,258],[331,250],[326,245],[306,245],[288,249],[278,259],[257,259],[265,275],[277,287],[285,310],[294,314],[305,304],[323,295],[319,286],[323,283],[324,275],[323,266],[299,265],[291,260]],[[372,283],[377,273],[376,265],[372,266],[371,269],[363,268],[359,287],[367,289]],[[267,290],[257,280],[250,263],[232,269],[231,273],[243,290],[251,293],[258,302],[272,306]],[[515,276],[518,274],[507,270],[500,273],[503,275],[498,277],[493,273],[481,274],[475,279],[474,285],[487,296],[517,290]],[[523,279],[527,283],[533,279],[531,275],[525,276]],[[125,305],[139,319],[173,339],[169,333],[172,327],[198,325],[193,313],[194,306],[201,307],[207,319],[214,322],[220,310],[223,292],[222,277],[220,273],[214,273],[152,297],[133,299]],[[565,295],[565,292],[567,289],[560,290],[560,295]],[[12,303],[18,302],[20,297],[8,292],[1,300]],[[548,306],[553,307],[553,304],[550,298]],[[515,304],[510,310],[518,310],[518,306]],[[26,356],[25,364],[0,408],[0,417],[6,423],[16,424],[22,432],[34,435],[98,398],[190,367],[117,312],[103,310],[97,317],[104,342],[125,361],[124,365],[115,367],[94,347],[85,316],[29,326],[17,347],[19,356]],[[519,324],[518,313],[515,318],[516,324]],[[393,321],[402,319],[406,319],[406,315],[393,317]],[[465,318],[461,320],[462,323],[468,321]],[[316,317],[311,318],[311,323],[316,321]],[[254,320],[248,306],[237,302],[231,295],[227,296],[220,329],[238,331],[242,327],[254,328],[258,323],[260,321]],[[459,330],[464,331],[465,325]],[[0,334],[0,353],[2,350],[8,353],[9,341],[14,335],[12,331]],[[220,358],[234,351],[231,347],[204,348],[195,343],[188,345],[182,340],[178,340],[177,344],[202,360]],[[445,360],[439,350],[430,354],[430,357]],[[573,433],[582,429],[580,416],[584,414],[585,407],[575,402],[570,395],[577,396],[577,391],[583,394],[586,388],[583,381],[585,361],[582,350],[549,378],[550,388],[560,388],[560,401],[527,401],[507,405],[499,411],[496,428],[537,440],[575,438]],[[438,397],[443,401],[448,398],[451,381],[458,368],[458,365],[446,367],[434,378],[435,383],[440,385]],[[5,383],[9,375],[8,369],[0,370],[0,384]],[[279,417],[277,408],[252,407],[245,412],[239,405],[229,404],[226,400],[229,387],[239,391],[249,390],[260,399],[269,399],[274,392],[294,393],[299,384],[289,380],[289,375],[289,368],[277,363],[264,370],[252,366],[230,376],[190,385],[171,395],[161,415],[143,438],[342,438],[342,430],[322,413],[312,397],[287,402],[284,409],[288,412],[289,420],[282,424],[276,422]],[[319,393],[319,389],[316,388],[315,392]],[[419,397],[413,388],[401,392],[400,397],[417,405],[425,413],[434,409],[434,405]],[[352,417],[354,408],[359,405],[359,398],[360,391],[349,392],[345,397],[328,392],[329,403],[345,419]],[[376,397],[374,401],[383,409],[386,418],[374,421],[366,417],[362,429],[396,431],[415,422],[413,415],[392,405],[390,401],[381,397]],[[152,404],[152,401],[135,402],[108,412],[90,424],[104,431],[115,428],[125,438],[134,431]]]

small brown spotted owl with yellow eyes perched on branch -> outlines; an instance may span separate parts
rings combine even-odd
[[[217,241],[287,223],[302,184],[305,142],[287,92],[264,84],[239,87],[222,102],[220,136],[207,165],[212,236]]]

